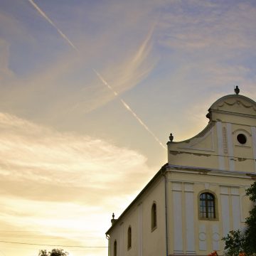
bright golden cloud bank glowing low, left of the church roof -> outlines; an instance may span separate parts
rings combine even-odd
[[[1,226],[38,230],[20,242],[104,245],[113,208],[154,174],[137,151],[3,112],[0,156]]]

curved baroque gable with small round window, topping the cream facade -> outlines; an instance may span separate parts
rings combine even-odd
[[[242,95],[215,101],[202,132],[183,142],[168,142],[168,162],[228,171],[256,172],[256,102]]]

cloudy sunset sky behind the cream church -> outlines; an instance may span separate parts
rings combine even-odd
[[[0,0],[0,255],[107,255],[169,134],[256,100],[255,24],[246,0]]]

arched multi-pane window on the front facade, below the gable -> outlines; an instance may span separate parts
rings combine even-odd
[[[216,218],[215,213],[215,197],[212,193],[201,193],[200,195],[200,218],[213,219]]]

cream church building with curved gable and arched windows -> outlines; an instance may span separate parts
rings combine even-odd
[[[195,137],[167,143],[168,163],[112,220],[110,256],[222,255],[221,238],[245,226],[245,189],[256,178],[256,102],[227,95],[207,117]]]

